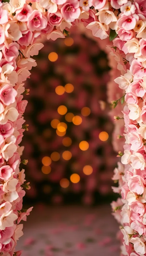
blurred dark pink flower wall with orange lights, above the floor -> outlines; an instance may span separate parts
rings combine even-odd
[[[89,50],[90,49],[90,50]],[[84,34],[45,42],[26,88],[22,145],[31,190],[25,201],[97,204],[111,201],[116,154],[106,104],[105,52]]]

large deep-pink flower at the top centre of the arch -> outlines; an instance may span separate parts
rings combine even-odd
[[[75,19],[78,19],[81,13],[81,10],[79,8],[79,1],[68,0],[65,4],[63,4],[61,8],[61,13],[64,20],[66,20],[67,22],[73,22]]]

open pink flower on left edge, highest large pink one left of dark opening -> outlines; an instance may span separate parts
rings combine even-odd
[[[10,85],[2,87],[0,90],[0,100],[6,106],[15,102],[15,97],[17,96],[17,91]]]

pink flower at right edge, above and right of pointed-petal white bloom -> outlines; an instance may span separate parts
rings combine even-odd
[[[138,78],[143,78],[146,75],[146,68],[144,68],[138,60],[133,60],[130,66],[131,73]]]

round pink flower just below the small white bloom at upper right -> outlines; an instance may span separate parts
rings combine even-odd
[[[136,25],[136,19],[135,17],[129,15],[129,16],[126,16],[126,15],[122,15],[118,21],[117,21],[117,24],[120,28],[123,28],[125,30],[131,30],[131,29],[134,29],[135,28],[135,25]]]

